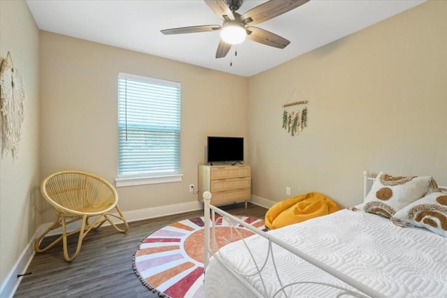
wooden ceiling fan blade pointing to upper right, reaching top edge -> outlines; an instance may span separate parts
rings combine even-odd
[[[241,16],[241,20],[244,24],[254,25],[261,22],[268,21],[278,15],[287,13],[289,10],[293,10],[302,4],[307,3],[309,0],[270,0],[261,5],[252,8]]]

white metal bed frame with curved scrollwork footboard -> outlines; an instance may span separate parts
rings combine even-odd
[[[370,181],[374,181],[374,177],[369,177],[368,172],[363,172],[363,196],[364,198],[366,198],[367,195],[367,189],[370,187],[368,186]],[[342,272],[328,266],[325,265],[323,262],[316,260],[315,258],[312,258],[311,256],[307,255],[306,253],[303,253],[302,251],[299,251],[298,249],[294,248],[293,246],[286,244],[284,241],[281,241],[280,239],[273,237],[272,235],[263,232],[262,230],[258,229],[258,228],[254,228],[252,225],[249,225],[248,223],[245,223],[244,221],[241,221],[239,218],[228,214],[226,211],[223,211],[217,207],[214,207],[212,204],[210,204],[211,202],[211,196],[212,194],[208,191],[205,191],[203,193],[203,202],[204,202],[204,214],[205,214],[205,234],[204,234],[204,238],[205,238],[205,259],[204,259],[204,272],[206,271],[207,265],[210,261],[210,256],[212,255],[214,258],[216,258],[217,260],[219,260],[219,262],[221,262],[221,264],[226,267],[232,274],[233,276],[235,276],[235,278],[237,278],[241,283],[243,283],[256,297],[260,297],[260,298],[265,298],[264,295],[261,294],[261,292],[258,292],[258,290],[256,290],[256,288],[254,288],[252,285],[250,285],[244,278],[244,276],[242,276],[242,274],[240,274],[239,272],[235,271],[235,269],[233,269],[232,267],[230,267],[228,264],[226,264],[226,262],[219,256],[219,252],[217,251],[217,244],[216,244],[216,236],[215,236],[215,226],[214,223],[215,221],[215,216],[216,214],[219,214],[223,217],[223,220],[228,221],[228,223],[230,222],[236,222],[239,225],[244,226],[244,228],[247,228],[249,230],[251,230],[251,232],[254,232],[258,235],[260,235],[261,237],[264,237],[265,239],[268,240],[268,254],[265,257],[265,260],[263,262],[263,264],[258,265],[256,264],[256,262],[254,262],[254,264],[256,265],[256,269],[258,270],[258,272],[255,275],[258,275],[261,278],[261,282],[263,284],[264,290],[265,290],[265,283],[263,281],[263,276],[261,274],[261,272],[263,271],[264,265],[268,262],[269,258],[271,258],[272,263],[274,265],[274,269],[275,272],[274,274],[276,275],[276,278],[279,282],[279,285],[281,285],[281,288],[279,288],[279,290],[277,292],[274,293],[274,295],[272,296],[272,298],[277,297],[277,295],[280,292],[283,292],[284,295],[286,297],[288,297],[288,295],[286,294],[286,288],[288,287],[292,287],[293,285],[299,285],[299,284],[305,284],[305,283],[314,283],[314,284],[318,284],[318,285],[323,285],[323,286],[328,286],[331,288],[336,288],[339,289],[340,292],[336,297],[342,297],[344,295],[349,295],[352,297],[358,297],[358,298],[368,298],[368,297],[373,297],[373,298],[382,298],[382,297],[386,297],[385,295],[377,292],[376,290],[369,288],[367,285],[360,283],[359,281],[356,281],[355,279],[351,278],[350,276],[347,276],[346,274],[343,274]],[[210,216],[211,215],[211,216]],[[211,218],[210,218],[211,217]],[[211,229],[210,229],[211,228]],[[210,230],[211,230],[211,239],[212,239],[212,244],[210,244]],[[236,234],[239,234],[239,232],[237,231],[237,229],[234,229]],[[240,236],[240,234],[239,234]],[[242,239],[242,241],[244,241],[243,237],[240,237],[240,239]],[[247,245],[247,243],[244,241],[244,245],[247,248],[247,251],[249,252],[250,256],[251,256],[251,260],[254,261],[254,256],[251,254],[250,248]],[[330,285],[328,283],[316,283],[316,282],[307,282],[307,281],[297,281],[294,283],[289,283],[284,285],[281,281],[281,278],[279,277],[279,272],[278,269],[274,263],[274,254],[273,254],[273,246],[274,245],[278,245],[281,246],[282,248],[286,249],[287,251],[289,251],[290,253],[293,253],[294,255],[297,255],[299,258],[302,258],[303,260],[311,263],[312,265],[318,267],[319,269],[322,269],[323,271],[327,272],[328,274],[331,274],[332,276],[335,276],[335,278],[338,278],[340,281],[343,281],[344,283],[351,285],[353,288],[355,288],[356,290],[364,293],[364,294],[360,294],[359,292],[354,292],[353,290],[349,290],[347,288],[342,288],[339,287],[338,285]],[[272,273],[271,273],[272,274]]]

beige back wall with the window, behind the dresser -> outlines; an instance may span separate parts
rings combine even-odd
[[[117,176],[117,76],[182,84],[181,183],[117,188],[123,211],[196,201],[207,135],[247,137],[248,79],[41,31],[41,169]],[[48,220],[47,220],[48,221]]]

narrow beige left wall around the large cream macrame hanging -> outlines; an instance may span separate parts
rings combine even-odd
[[[0,56],[8,51],[22,74],[27,101],[19,157],[0,158],[0,285],[36,229],[32,207],[39,181],[38,29],[24,1],[0,1]]]

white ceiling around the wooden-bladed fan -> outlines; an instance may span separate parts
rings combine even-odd
[[[281,1],[281,0],[274,0]],[[256,27],[291,40],[284,50],[245,40],[216,59],[219,31],[161,29],[221,24],[202,0],[27,0],[39,29],[249,77],[425,0],[311,0]],[[265,1],[245,0],[238,13]],[[230,66],[230,62],[233,66]]]

